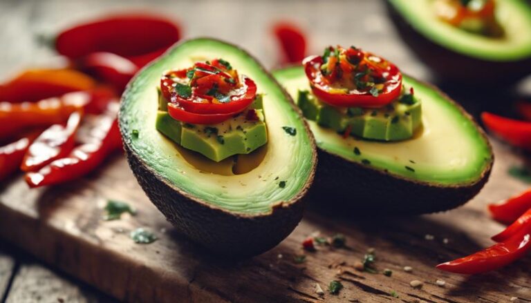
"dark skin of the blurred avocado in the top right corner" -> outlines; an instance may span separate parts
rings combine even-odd
[[[514,84],[531,74],[531,57],[519,61],[487,61],[462,55],[434,43],[413,28],[389,0],[387,12],[404,44],[415,52],[426,66],[443,82],[478,86],[483,84]]]

